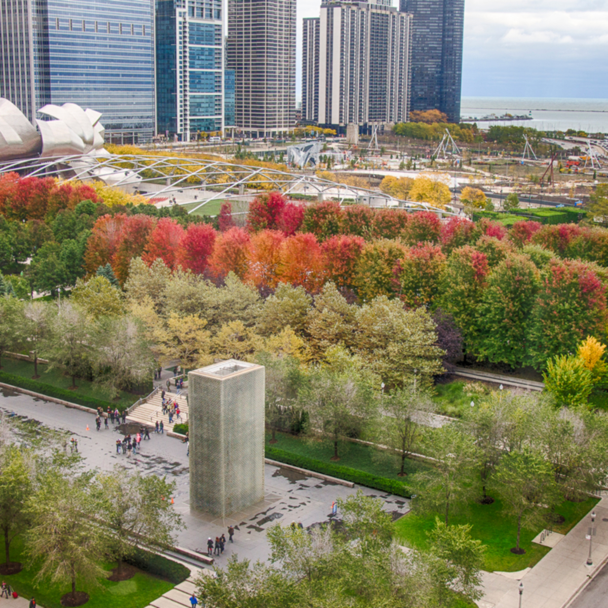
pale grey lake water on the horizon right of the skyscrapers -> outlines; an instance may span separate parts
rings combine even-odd
[[[576,129],[587,133],[608,133],[608,99],[558,99],[551,97],[463,97],[461,120],[488,114],[502,116],[528,115],[533,120],[478,122],[480,128],[490,125],[530,126],[541,131]]]

